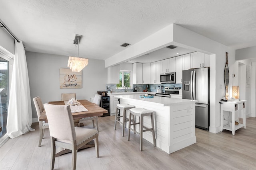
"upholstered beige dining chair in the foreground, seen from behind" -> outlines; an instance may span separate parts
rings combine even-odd
[[[72,167],[76,169],[76,152],[94,139],[96,156],[98,151],[98,131],[75,127],[69,105],[44,104],[49,124],[51,139],[51,169],[54,168],[56,147],[62,147],[72,151]]]

